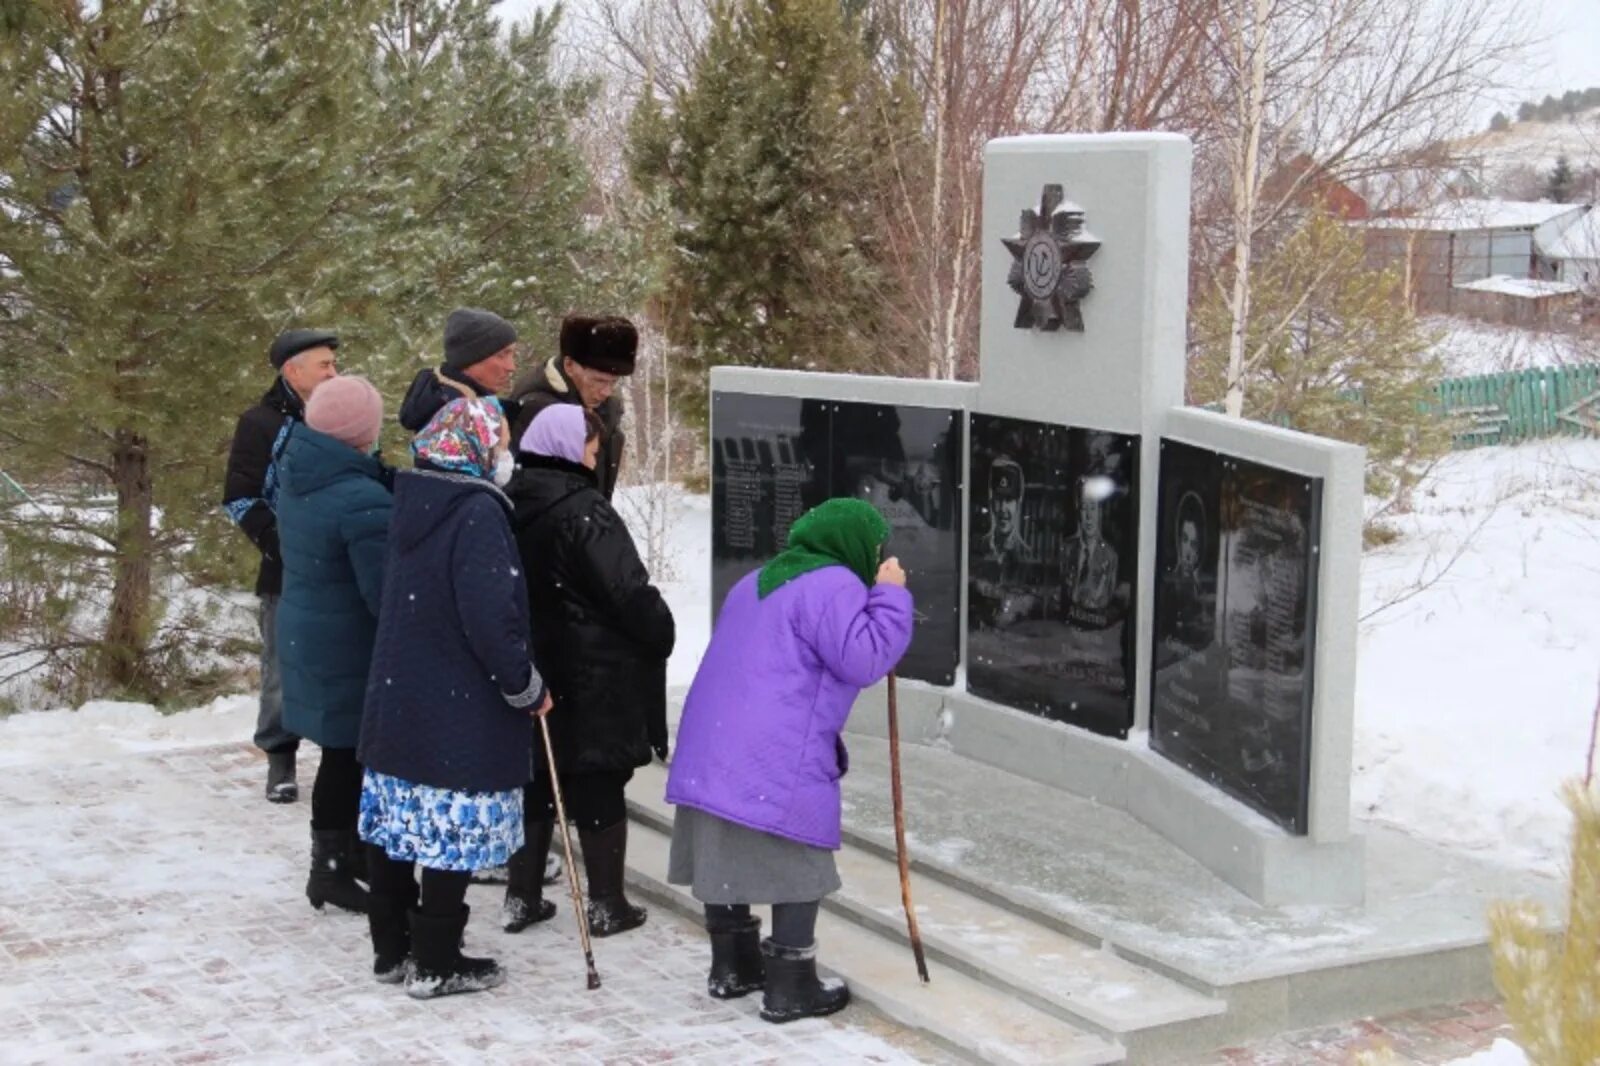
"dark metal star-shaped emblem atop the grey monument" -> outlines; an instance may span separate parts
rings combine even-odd
[[[1083,232],[1083,208],[1062,198],[1061,186],[1045,186],[1038,210],[1024,210],[1016,237],[1002,237],[1000,243],[1013,259],[1006,282],[1022,298],[1016,328],[1054,331],[1066,327],[1082,333],[1078,301],[1094,288],[1085,264],[1099,251],[1099,242]]]

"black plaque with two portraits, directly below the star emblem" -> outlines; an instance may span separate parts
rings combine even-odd
[[[1138,437],[973,415],[973,695],[1128,735],[1138,467]]]

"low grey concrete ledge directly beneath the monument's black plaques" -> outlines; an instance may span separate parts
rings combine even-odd
[[[899,682],[901,739],[1125,810],[1251,900],[1267,906],[1357,904],[1360,836],[1315,844],[1155,754],[1144,736],[1107,739],[955,690]],[[850,730],[885,736],[886,688],[862,693]]]

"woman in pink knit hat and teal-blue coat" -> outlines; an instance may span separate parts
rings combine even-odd
[[[365,378],[323,383],[278,459],[278,543],[283,599],[277,640],[283,725],[322,747],[310,795],[310,877],[306,898],[366,911],[355,818],[362,767],[366,669],[382,602],[390,472],[373,445],[384,402]]]

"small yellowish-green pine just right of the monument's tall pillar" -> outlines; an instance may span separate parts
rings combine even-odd
[[[1194,317],[1190,397],[1222,399],[1229,314],[1213,296]],[[1259,259],[1251,280],[1245,416],[1366,448],[1373,493],[1405,491],[1448,447],[1429,413],[1442,375],[1400,279],[1371,271],[1360,235],[1312,214]]]

